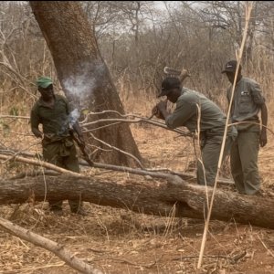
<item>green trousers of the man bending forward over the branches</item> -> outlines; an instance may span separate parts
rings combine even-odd
[[[235,137],[227,136],[225,149],[223,153],[223,160],[229,153],[234,139]],[[203,163],[201,163],[201,161],[198,161],[197,163],[198,184],[206,184],[211,186],[215,184],[222,140],[223,136],[221,135],[207,136],[205,138],[205,142],[201,146]]]

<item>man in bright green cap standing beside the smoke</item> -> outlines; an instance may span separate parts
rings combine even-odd
[[[69,107],[68,100],[54,94],[53,83],[50,78],[37,79],[37,89],[41,97],[31,110],[31,130],[37,138],[42,139],[43,157],[48,163],[79,173],[79,160],[73,139],[69,133]],[[42,124],[43,132],[38,126]],[[84,144],[83,135],[78,122],[73,125],[80,142]],[[48,200],[50,210],[58,215],[62,214],[62,201]],[[73,213],[86,216],[80,201],[68,201]]]

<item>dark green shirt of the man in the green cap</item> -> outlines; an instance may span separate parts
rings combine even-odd
[[[48,107],[40,98],[31,110],[31,127],[38,128],[41,123],[45,134],[68,136],[68,114],[68,100],[65,97],[56,94],[53,108]]]

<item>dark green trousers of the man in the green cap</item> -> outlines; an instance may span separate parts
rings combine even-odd
[[[57,142],[43,143],[43,157],[48,163],[79,173],[79,160],[76,147],[70,137]],[[51,210],[61,210],[63,201],[48,200]],[[80,201],[68,200],[71,212],[77,213],[82,206]]]

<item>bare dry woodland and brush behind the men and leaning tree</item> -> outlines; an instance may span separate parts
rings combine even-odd
[[[244,1],[86,1],[82,5],[124,103],[138,97],[150,103],[163,67],[184,66],[192,76],[185,85],[223,105],[227,79],[220,72],[240,46]],[[270,1],[255,3],[242,60],[244,74],[258,80],[269,100],[273,9]],[[35,79],[47,75],[57,81],[54,65],[26,2],[2,2],[0,20],[1,102],[5,107],[12,103],[8,111],[26,114],[26,106],[37,95]]]

